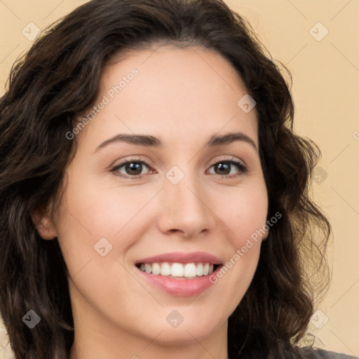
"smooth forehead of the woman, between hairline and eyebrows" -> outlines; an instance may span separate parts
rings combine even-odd
[[[243,130],[257,143],[255,109],[246,113],[238,106],[247,93],[236,69],[215,51],[174,46],[132,50],[102,69],[95,105],[107,103],[86,131],[92,128],[101,139],[116,131],[163,133],[183,143],[195,140],[194,134],[208,138]]]

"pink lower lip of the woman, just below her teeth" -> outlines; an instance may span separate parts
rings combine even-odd
[[[155,276],[154,274],[141,271],[141,269],[139,269],[137,266],[136,269],[140,271],[142,276],[144,276],[144,278],[148,280],[149,283],[155,287],[158,287],[164,292],[180,297],[191,297],[200,294],[203,292],[203,290],[206,290],[211,285],[213,285],[213,283],[210,282],[210,276],[215,276],[221,267],[222,266],[218,266],[218,268],[208,276],[189,279],[183,279],[182,277],[179,279],[174,279],[161,275]]]

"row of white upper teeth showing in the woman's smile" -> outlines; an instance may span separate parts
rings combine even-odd
[[[152,273],[156,276],[173,276],[173,277],[196,277],[196,276],[208,276],[213,273],[213,264],[209,263],[146,263],[141,264],[141,271]]]

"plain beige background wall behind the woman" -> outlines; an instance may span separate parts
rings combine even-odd
[[[0,95],[15,58],[32,45],[22,29],[30,37],[29,22],[43,29],[84,2],[0,0]],[[333,226],[333,277],[309,332],[315,346],[359,355],[359,1],[226,2],[290,69],[296,131],[323,151],[313,196]],[[0,334],[6,345],[5,330]],[[11,358],[8,347],[0,346],[0,358]]]

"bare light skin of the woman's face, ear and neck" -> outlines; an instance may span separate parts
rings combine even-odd
[[[44,239],[58,238],[69,269],[70,358],[225,359],[227,319],[248,290],[262,240],[194,297],[157,289],[134,263],[176,251],[204,251],[224,263],[264,226],[268,199],[259,152],[244,141],[205,147],[212,135],[242,132],[258,149],[255,109],[238,107],[248,91],[222,55],[174,46],[113,60],[95,103],[133,67],[139,74],[78,135],[55,220],[33,216]],[[156,136],[163,148],[116,142],[95,151],[119,133]],[[131,179],[125,166],[110,170],[139,158],[149,164],[140,179]],[[248,172],[236,165],[217,169],[231,158]],[[165,177],[174,165],[184,174],[178,184]],[[104,257],[93,248],[103,237],[112,245]],[[177,328],[166,321],[173,310],[184,318]]]

